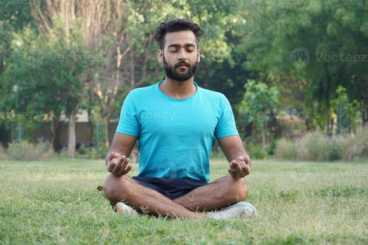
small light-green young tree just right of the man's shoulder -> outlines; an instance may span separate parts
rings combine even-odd
[[[262,135],[262,150],[266,151],[267,122],[272,116],[278,102],[279,91],[276,87],[268,87],[265,83],[248,80],[244,85],[247,91],[244,94],[241,107],[248,115],[249,122],[254,122]]]

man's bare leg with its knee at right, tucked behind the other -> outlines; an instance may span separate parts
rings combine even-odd
[[[219,210],[233,203],[243,201],[248,195],[244,178],[238,180],[230,175],[212,181],[209,185],[195,188],[174,202],[195,211]]]

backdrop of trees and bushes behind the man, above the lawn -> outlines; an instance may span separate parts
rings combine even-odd
[[[355,0],[4,0],[1,158],[104,158],[125,96],[164,79],[153,36],[175,17],[204,28],[194,80],[228,98],[252,158],[367,156],[367,10]]]

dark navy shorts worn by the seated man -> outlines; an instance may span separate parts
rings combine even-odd
[[[133,176],[132,179],[171,200],[185,196],[185,194],[197,187],[209,184],[207,181],[196,179],[170,179],[143,176]]]

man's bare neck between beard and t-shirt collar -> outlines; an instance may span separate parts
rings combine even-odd
[[[191,77],[186,81],[177,81],[165,77],[165,80],[160,83],[160,90],[173,98],[185,99],[191,97],[197,91],[197,87],[193,84],[194,78]]]

